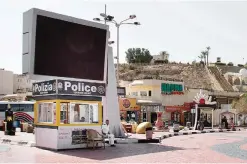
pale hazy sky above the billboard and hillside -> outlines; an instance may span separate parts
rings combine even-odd
[[[192,62],[206,46],[211,47],[211,62],[217,57],[247,62],[247,1],[1,0],[0,68],[21,73],[23,12],[35,7],[92,20],[104,12],[104,4],[117,21],[136,14],[141,23],[120,28],[121,62],[132,47],[147,48],[153,55],[167,51],[170,61]],[[116,41],[116,28],[110,25],[110,30]]]

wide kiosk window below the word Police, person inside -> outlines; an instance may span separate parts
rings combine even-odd
[[[98,104],[70,103],[70,123],[98,123]]]

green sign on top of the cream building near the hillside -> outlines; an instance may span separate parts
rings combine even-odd
[[[183,94],[184,87],[183,84],[171,84],[162,83],[161,84],[161,94]]]

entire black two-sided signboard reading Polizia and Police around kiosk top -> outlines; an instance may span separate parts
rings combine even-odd
[[[105,84],[71,80],[50,80],[33,84],[33,95],[105,96]]]

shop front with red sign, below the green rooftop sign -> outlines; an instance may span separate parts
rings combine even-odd
[[[185,125],[186,122],[191,122],[191,106],[188,103],[184,103],[181,106],[165,106],[165,111],[170,113],[171,122],[177,122],[181,125]]]

